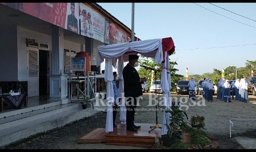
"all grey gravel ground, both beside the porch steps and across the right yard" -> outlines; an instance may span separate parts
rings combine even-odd
[[[162,95],[158,94],[159,103]],[[186,108],[189,119],[192,116],[205,117],[205,132],[210,135],[213,141],[219,145],[217,149],[244,149],[235,137],[256,138],[256,96],[249,95],[249,102],[232,100],[223,102],[214,96],[213,102],[202,100],[202,95],[197,96],[197,102],[187,101],[188,95],[175,95],[171,93],[172,101],[180,101],[181,106]],[[154,93],[144,93],[140,106],[141,109],[135,113],[135,124],[159,124],[162,126],[162,112],[155,110]],[[153,105],[149,103],[152,102]],[[231,138],[230,138],[230,123]],[[115,124],[119,124],[119,112]],[[62,128],[51,130],[50,132],[37,135],[36,137],[25,139],[14,143],[6,149],[149,149],[146,147],[115,146],[105,145],[105,143],[77,143],[78,138],[90,133],[97,128],[105,128],[106,112],[99,112],[91,117],[73,122]]]

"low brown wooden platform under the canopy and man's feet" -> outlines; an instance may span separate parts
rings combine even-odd
[[[135,124],[141,126],[137,132],[126,130],[126,124],[119,124],[113,132],[105,133],[105,128],[97,128],[78,139],[78,143],[105,143],[106,145],[150,147],[155,137],[161,139],[161,129],[155,128],[150,133],[150,126],[155,124]],[[159,125],[162,126],[162,125]]]

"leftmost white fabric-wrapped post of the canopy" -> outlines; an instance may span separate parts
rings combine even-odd
[[[106,88],[106,104],[107,104],[107,117],[106,117],[106,129],[105,132],[113,132],[113,107],[112,102],[114,102],[114,91],[112,81],[114,80],[113,69],[112,69],[111,59],[105,60],[105,72],[104,79],[107,83]]]

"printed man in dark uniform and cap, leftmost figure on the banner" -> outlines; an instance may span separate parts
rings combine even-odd
[[[75,3],[70,3],[71,14],[67,15],[67,30],[78,33],[78,20],[75,18]]]

